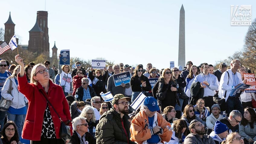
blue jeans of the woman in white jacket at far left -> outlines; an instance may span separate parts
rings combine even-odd
[[[7,112],[6,115],[7,115],[7,121],[10,121],[10,120],[14,121],[14,123],[18,128],[19,137],[21,137],[23,114],[10,114]]]

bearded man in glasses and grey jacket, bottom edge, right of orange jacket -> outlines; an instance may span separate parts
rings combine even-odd
[[[184,144],[215,144],[213,138],[205,134],[204,125],[199,120],[192,120],[188,128],[191,133],[186,136]]]

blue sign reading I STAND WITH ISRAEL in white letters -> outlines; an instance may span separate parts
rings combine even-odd
[[[113,75],[115,86],[121,85],[121,83],[127,84],[130,83],[131,74],[129,72],[123,72],[116,75]]]

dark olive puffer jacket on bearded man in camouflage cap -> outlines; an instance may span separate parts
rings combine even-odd
[[[120,113],[114,109],[105,112],[96,127],[97,144],[133,144],[130,141],[129,116],[124,114],[121,118]]]

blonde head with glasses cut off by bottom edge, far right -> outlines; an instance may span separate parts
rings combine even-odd
[[[237,132],[233,132],[221,144],[244,144],[244,137],[240,136]]]

